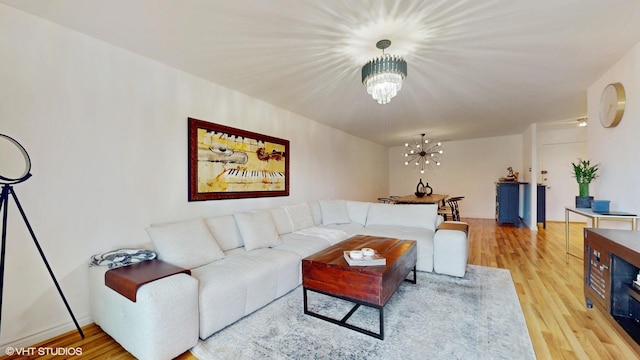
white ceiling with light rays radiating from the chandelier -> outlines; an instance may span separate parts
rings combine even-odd
[[[387,146],[574,121],[640,42],[638,0],[0,1]],[[409,65],[387,105],[360,74],[380,39]]]

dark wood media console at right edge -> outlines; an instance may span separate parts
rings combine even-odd
[[[585,229],[584,296],[640,354],[640,232]]]

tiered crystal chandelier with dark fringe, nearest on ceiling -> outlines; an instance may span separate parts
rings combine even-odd
[[[370,60],[362,67],[362,84],[378,104],[388,104],[402,88],[407,77],[407,62],[400,56],[384,53],[391,45],[390,40],[380,40],[376,47],[382,50],[382,56]]]

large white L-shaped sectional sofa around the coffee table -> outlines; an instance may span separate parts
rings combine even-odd
[[[158,258],[191,269],[132,302],[90,267],[94,322],[139,359],[170,359],[301,284],[301,260],[356,234],[417,241],[419,271],[465,274],[465,231],[437,230],[436,205],[313,201],[151,226]]]

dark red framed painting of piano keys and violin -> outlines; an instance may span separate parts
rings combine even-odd
[[[189,201],[289,196],[289,140],[188,118]]]

